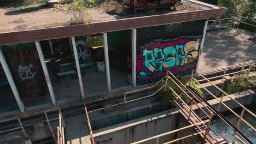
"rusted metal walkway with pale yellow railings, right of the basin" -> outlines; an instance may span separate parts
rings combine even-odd
[[[246,68],[248,68],[248,69],[246,69]],[[255,68],[256,68],[255,62],[247,62],[247,63],[238,64],[238,65],[232,65],[231,67],[224,68],[224,74],[221,74],[221,72],[220,72],[223,69],[215,70],[215,74],[217,74],[217,75],[215,75],[213,77],[210,77],[209,79],[220,78],[220,79],[222,79],[222,82],[223,82],[224,76],[234,75],[234,74],[241,74],[243,71],[248,71],[247,76],[254,77],[255,76],[255,74],[254,74]],[[227,71],[229,71],[229,72],[227,73]],[[196,75],[194,75],[194,73],[196,73]],[[213,71],[208,71],[208,72],[204,73],[204,75],[210,75],[210,73],[212,75],[214,75]],[[194,76],[197,77],[197,79],[195,79]],[[200,78],[200,77],[202,77],[202,78]],[[208,93],[210,93],[214,99],[217,99],[219,101],[218,109],[215,109],[211,104],[209,104],[207,102],[207,100],[205,100],[202,97],[202,95],[199,95],[198,93],[196,93],[195,90],[190,87],[190,85],[185,86],[181,81],[179,81],[177,79],[176,76],[174,76],[172,73],[170,73],[170,71],[167,71],[166,76],[163,79],[161,79],[158,83],[156,83],[156,85],[158,85],[159,83],[160,84],[164,83],[164,84],[162,86],[159,86],[160,88],[155,93],[158,93],[164,87],[165,87],[165,92],[167,91],[167,88],[170,89],[170,91],[172,93],[171,93],[171,95],[168,95],[168,98],[170,98],[170,100],[173,101],[174,104],[176,104],[176,106],[179,107],[183,116],[188,119],[188,122],[190,122],[191,125],[189,125],[187,127],[196,127],[196,130],[199,131],[197,133],[190,134],[190,135],[187,135],[187,136],[184,136],[184,137],[180,137],[176,140],[172,140],[172,141],[166,142],[166,143],[173,143],[173,142],[183,140],[183,139],[186,139],[186,138],[194,136],[194,135],[201,135],[203,137],[203,140],[202,140],[201,143],[216,143],[216,139],[219,139],[219,138],[221,138],[225,135],[232,134],[232,133],[236,133],[238,135],[238,136],[235,135],[234,140],[232,141],[232,143],[236,143],[236,140],[240,141],[241,143],[253,143],[251,140],[248,139],[248,137],[245,134],[243,134],[239,130],[238,127],[239,127],[239,125],[242,121],[242,122],[246,123],[250,128],[252,128],[255,131],[255,128],[251,124],[249,124],[246,121],[246,119],[242,118],[243,113],[245,111],[248,112],[251,116],[253,116],[255,118],[254,113],[252,113],[251,111],[246,109],[245,106],[238,103],[238,101],[236,101],[235,99],[231,98],[230,95],[225,93],[221,88],[214,85],[214,83],[212,83],[209,79],[207,79],[205,76],[203,76],[202,74],[200,74],[196,70],[193,70],[193,73],[191,75],[191,80],[195,81],[199,86],[201,86]],[[214,94],[212,94],[205,87],[203,87],[200,84],[200,81],[207,81],[207,82],[211,83],[211,85],[216,87],[222,93],[222,97],[217,98]],[[174,84],[174,87],[176,87],[176,88],[173,88],[173,86],[171,87],[170,85],[168,85],[169,82],[172,82],[172,84]],[[177,92],[177,87],[178,87],[179,94]],[[174,95],[174,97],[173,97],[173,95]],[[151,96],[152,95],[148,95],[147,97],[151,97]],[[183,98],[182,98],[182,96],[183,96]],[[226,104],[223,103],[222,100],[223,100],[224,96],[229,97],[230,100],[232,100],[234,103],[236,103],[236,104],[238,104],[239,106],[242,107],[242,112],[241,112],[240,116],[237,115],[237,113],[235,113],[232,109],[230,109],[230,107],[228,107]],[[184,97],[185,97],[185,99],[184,99]],[[124,98],[125,98],[125,96],[124,96]],[[187,101],[185,101],[185,100],[187,100]],[[200,107],[199,104],[202,105],[203,107]],[[202,113],[204,113],[205,117],[200,118],[196,114],[196,112],[193,110],[193,108],[192,108],[193,105],[195,105]],[[232,112],[235,116],[238,117],[238,121],[237,121],[236,126],[233,125],[231,122],[229,122],[228,119],[226,119],[219,112],[220,106],[222,106],[222,105],[225,106],[226,109],[228,109],[230,112]],[[226,133],[226,134],[223,134],[223,135],[220,135],[220,136],[215,136],[215,137],[212,137],[212,136],[208,135],[208,132],[210,131],[211,120],[212,120],[213,117],[219,117],[226,124],[228,124],[228,126],[231,129],[233,129],[234,131],[231,131],[230,133]],[[203,120],[203,119],[207,119],[207,120]],[[187,127],[180,128],[180,129],[177,129],[177,130],[172,130],[172,131],[169,131],[169,132],[161,134],[161,135],[149,137],[148,139],[137,141],[137,142],[134,142],[133,144],[142,143],[142,142],[146,142],[146,141],[153,140],[153,139],[155,139],[156,143],[158,143],[161,136],[165,136],[165,135],[168,135],[168,134],[175,133],[177,131],[186,129]],[[226,143],[228,143],[228,142],[226,141]]]

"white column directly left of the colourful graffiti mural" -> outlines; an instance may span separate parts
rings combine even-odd
[[[137,47],[137,29],[132,29],[132,86],[136,87],[136,47]]]

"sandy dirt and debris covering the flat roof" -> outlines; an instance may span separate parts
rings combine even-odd
[[[0,6],[0,32],[70,25],[73,16],[71,11],[67,11],[66,13],[64,3],[59,4],[58,8],[49,8],[40,0],[20,1],[18,3],[10,3]],[[98,3],[96,7],[91,8],[89,10],[90,15],[86,17],[86,19],[91,22],[101,22],[201,9],[206,8],[182,0],[176,4],[175,11],[171,9],[149,9],[139,10],[134,14],[130,8],[126,6],[124,7],[122,2],[118,0],[106,0]]]

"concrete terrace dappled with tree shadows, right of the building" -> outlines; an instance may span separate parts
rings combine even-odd
[[[256,43],[248,40],[253,37],[256,37],[256,34],[240,28],[207,32],[199,62],[199,71],[256,61]]]

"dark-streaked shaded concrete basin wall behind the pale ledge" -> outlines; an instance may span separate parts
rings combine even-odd
[[[102,129],[164,111],[162,102],[150,103],[152,99],[135,101],[107,110],[89,113],[92,130]]]

